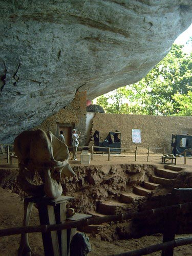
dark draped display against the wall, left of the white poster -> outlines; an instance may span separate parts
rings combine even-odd
[[[110,132],[103,142],[99,140],[99,131],[95,131],[94,135],[95,146],[106,147],[105,148],[95,148],[96,152],[108,152],[108,147],[111,147],[111,152],[120,153],[121,140],[119,132]],[[115,147],[115,148],[113,148]],[[117,148],[117,149],[116,149]]]

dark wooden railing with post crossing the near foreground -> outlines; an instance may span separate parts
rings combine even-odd
[[[174,212],[181,212],[182,210],[190,210],[192,209],[192,203],[183,203],[183,204],[176,204],[176,205],[170,205],[165,207],[160,207],[156,209],[151,209],[143,212],[137,212],[137,213],[130,213],[130,214],[120,214],[120,215],[112,215],[112,216],[105,216],[105,217],[96,217],[86,220],[79,220],[79,221],[66,221],[65,223],[61,224],[52,224],[52,225],[38,225],[38,226],[27,226],[27,227],[16,227],[16,228],[7,228],[7,229],[1,229],[0,230],[0,237],[4,236],[10,236],[13,234],[23,234],[23,233],[34,233],[34,232],[50,232],[53,230],[62,230],[62,229],[71,229],[71,228],[78,228],[81,226],[91,225],[91,224],[101,224],[103,222],[111,222],[111,221],[123,221],[128,219],[134,219],[134,218],[143,218],[144,216],[153,215],[152,218],[156,218],[155,215],[163,214],[164,218],[167,218],[165,215],[168,214],[168,221],[170,221],[170,218],[172,218],[172,214]],[[175,216],[177,216],[177,214]],[[176,219],[175,219],[176,220]],[[174,225],[176,226],[177,223],[174,222]],[[164,229],[163,238],[167,236],[167,228]],[[175,230],[174,230],[175,232]],[[171,234],[172,236],[172,234]],[[151,246],[147,246],[142,249],[129,251],[121,254],[116,254],[114,256],[140,256],[140,255],[148,255],[149,253],[162,250],[162,255],[164,256],[173,256],[173,250],[174,247],[191,244],[192,238],[184,238],[184,239],[177,239],[175,240],[175,233],[174,233],[174,239],[169,239],[167,241],[163,241],[163,243],[155,244]]]

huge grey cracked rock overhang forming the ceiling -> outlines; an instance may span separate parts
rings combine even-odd
[[[1,1],[0,141],[139,81],[191,23],[191,0]]]

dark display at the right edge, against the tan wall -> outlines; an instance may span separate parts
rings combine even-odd
[[[182,146],[182,139],[186,138],[185,146]],[[173,146],[173,154],[182,155],[185,150],[188,150],[192,147],[192,136],[191,135],[180,135],[180,134],[172,134],[172,146]],[[186,152],[187,156],[191,156],[190,152]]]

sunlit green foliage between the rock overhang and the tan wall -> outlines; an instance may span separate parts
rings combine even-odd
[[[97,98],[106,113],[192,115],[192,54],[173,45],[142,80]]]

